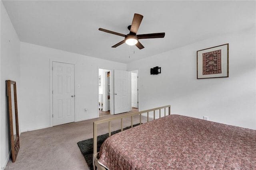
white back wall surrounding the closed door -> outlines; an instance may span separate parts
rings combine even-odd
[[[51,125],[50,61],[75,64],[75,121],[98,117],[98,68],[126,70],[126,64],[21,42],[21,131]]]

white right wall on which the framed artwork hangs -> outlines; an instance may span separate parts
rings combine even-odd
[[[170,104],[172,114],[256,129],[255,31],[254,25],[128,64],[140,71],[140,110]],[[196,51],[226,43],[229,77],[197,79]],[[162,73],[150,75],[154,66]]]

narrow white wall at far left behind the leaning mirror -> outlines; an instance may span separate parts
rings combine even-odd
[[[10,156],[10,126],[6,98],[5,80],[17,84],[18,107],[20,105],[20,40],[10,18],[0,1],[1,45],[0,45],[0,167],[5,166]],[[19,111],[19,110],[18,110]],[[20,118],[20,117],[19,117]],[[20,122],[19,122],[20,123]]]

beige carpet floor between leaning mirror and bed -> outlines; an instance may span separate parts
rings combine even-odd
[[[6,166],[13,170],[89,170],[77,142],[93,137],[94,121],[118,115],[21,133],[16,162],[10,159]],[[130,120],[130,117],[123,120],[124,127],[130,126]],[[142,122],[146,122],[146,117],[142,116]],[[139,123],[138,116],[133,123]],[[112,121],[111,125],[111,131],[120,129],[120,121]],[[108,133],[108,123],[98,125],[98,135],[105,133]]]

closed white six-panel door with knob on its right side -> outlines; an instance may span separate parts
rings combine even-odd
[[[75,121],[74,64],[52,62],[53,125]]]

